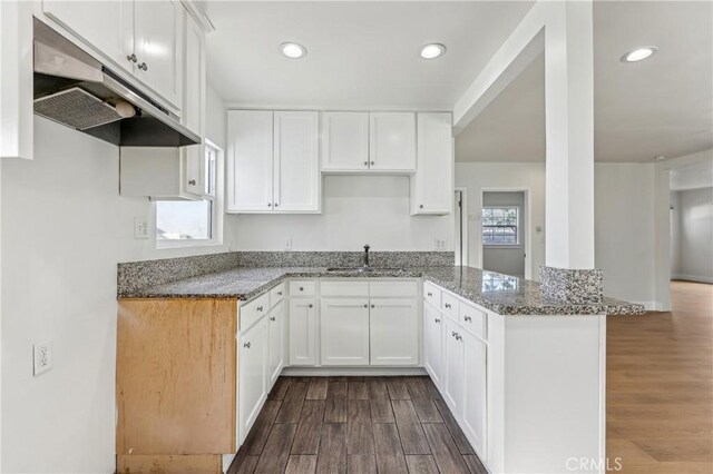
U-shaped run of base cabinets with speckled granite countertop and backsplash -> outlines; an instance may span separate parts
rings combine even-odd
[[[492,472],[604,456],[606,316],[643,307],[553,299],[536,282],[448,266],[452,253],[371,261],[231,253],[120,264],[119,470],[185,455],[219,472],[281,374],[428,374]]]

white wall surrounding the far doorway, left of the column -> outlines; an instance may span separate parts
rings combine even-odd
[[[533,279],[545,265],[545,164],[544,162],[457,162],[456,187],[468,189],[468,265],[482,268],[480,261],[480,213],[484,189],[528,189],[531,200],[530,226]],[[537,233],[540,227],[543,231]]]

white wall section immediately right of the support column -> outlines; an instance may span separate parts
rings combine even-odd
[[[654,165],[595,164],[595,260],[607,296],[655,307]]]

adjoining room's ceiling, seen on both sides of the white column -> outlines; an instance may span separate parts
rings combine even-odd
[[[595,159],[651,161],[713,147],[713,3],[597,1]],[[624,52],[657,46],[639,63]],[[458,161],[545,159],[540,56],[456,140]]]

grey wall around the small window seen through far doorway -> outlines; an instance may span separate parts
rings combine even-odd
[[[525,240],[529,238],[525,228],[527,209],[525,208],[525,195],[520,192],[484,192],[482,205],[487,206],[516,206],[518,207],[518,228],[520,229],[518,245],[484,246],[482,267],[487,270],[506,275],[525,276]]]

